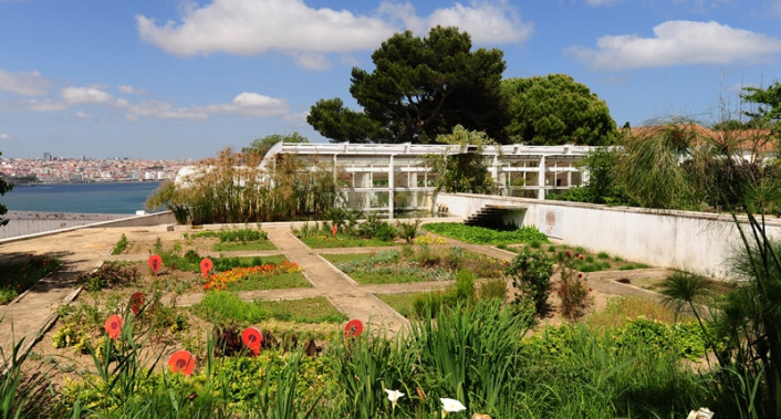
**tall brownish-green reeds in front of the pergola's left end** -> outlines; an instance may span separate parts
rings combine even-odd
[[[332,208],[333,170],[279,156],[261,167],[257,154],[220,151],[198,164],[180,184],[167,182],[147,200],[164,206],[180,223],[243,223],[290,220]]]

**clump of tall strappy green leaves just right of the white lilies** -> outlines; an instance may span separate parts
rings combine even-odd
[[[507,395],[518,390],[518,347],[531,313],[488,300],[428,317],[410,334],[420,350],[423,380],[438,388],[433,396],[461,400],[470,411],[491,417],[514,416],[516,400]]]

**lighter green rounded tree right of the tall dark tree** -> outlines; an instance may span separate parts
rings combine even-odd
[[[501,90],[513,143],[604,146],[617,138],[605,101],[566,74],[508,78]]]

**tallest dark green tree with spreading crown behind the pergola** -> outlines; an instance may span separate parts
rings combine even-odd
[[[502,139],[503,53],[470,50],[471,38],[456,28],[397,33],[372,54],[373,72],[352,71],[350,93],[362,112],[321,99],[306,121],[333,142],[435,143],[456,125]]]

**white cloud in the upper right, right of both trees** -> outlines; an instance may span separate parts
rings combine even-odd
[[[714,21],[667,21],[654,27],[654,35],[606,35],[596,50],[572,46],[566,52],[594,70],[759,62],[781,52],[778,38]]]

